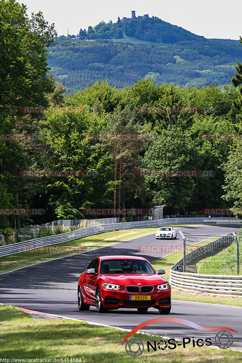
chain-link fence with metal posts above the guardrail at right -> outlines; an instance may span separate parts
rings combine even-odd
[[[242,233],[201,235],[181,233],[183,258],[173,270],[210,275],[242,273]]]

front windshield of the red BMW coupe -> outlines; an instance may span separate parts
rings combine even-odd
[[[132,260],[123,258],[115,259],[115,260],[103,260],[101,262],[100,268],[101,274],[110,274],[110,273],[121,273],[121,274],[129,274],[129,273],[151,273],[154,274],[155,270],[152,269],[151,265],[148,264],[147,261],[144,260]]]

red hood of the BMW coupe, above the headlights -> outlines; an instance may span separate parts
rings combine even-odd
[[[167,280],[158,274],[107,274],[101,275],[105,282],[122,285],[158,285],[165,284]]]

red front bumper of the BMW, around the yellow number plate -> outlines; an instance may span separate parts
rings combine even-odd
[[[125,308],[138,308],[138,307],[155,307],[160,309],[161,307],[169,307],[171,305],[171,289],[165,291],[152,291],[150,294],[131,294],[126,290],[106,290],[101,289],[103,307],[109,309]],[[151,300],[130,300],[130,295],[148,295],[151,296]]]

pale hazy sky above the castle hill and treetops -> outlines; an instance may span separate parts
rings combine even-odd
[[[28,14],[42,11],[45,20],[55,24],[58,35],[77,34],[100,21],[118,16],[131,17],[149,14],[173,25],[181,26],[206,38],[239,39],[242,36],[241,0],[17,0],[28,7]]]

